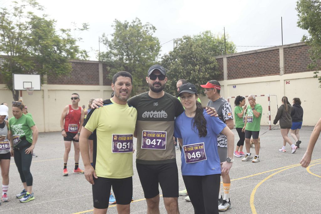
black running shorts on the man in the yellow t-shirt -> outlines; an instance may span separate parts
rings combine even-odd
[[[121,205],[130,204],[133,197],[133,177],[128,178],[94,178],[92,185],[92,200],[94,208],[108,208],[110,189],[113,187],[116,203]]]

